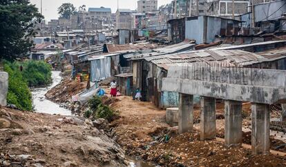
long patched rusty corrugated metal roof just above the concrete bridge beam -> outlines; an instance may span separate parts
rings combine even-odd
[[[284,49],[285,50],[285,49]],[[276,56],[274,56],[274,53]],[[247,66],[263,61],[274,61],[285,58],[286,50],[263,52],[260,55],[244,50],[203,50],[198,52],[184,52],[179,54],[159,55],[144,57],[146,61],[155,63],[157,66],[168,69],[169,66],[181,66],[182,63],[204,61],[207,63],[220,63],[225,66]]]

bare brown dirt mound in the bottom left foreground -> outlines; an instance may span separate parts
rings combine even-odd
[[[120,146],[82,117],[2,108],[0,132],[0,166],[128,164]]]

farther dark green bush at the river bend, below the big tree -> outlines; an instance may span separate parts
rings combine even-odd
[[[42,86],[52,81],[50,65],[44,61],[24,61],[23,77],[27,79],[28,86]]]

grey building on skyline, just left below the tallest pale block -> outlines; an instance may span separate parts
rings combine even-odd
[[[133,25],[133,11],[130,9],[117,9],[116,12],[116,28],[118,29],[132,29]]]

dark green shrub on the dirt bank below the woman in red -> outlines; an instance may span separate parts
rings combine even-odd
[[[91,115],[95,119],[103,118],[107,121],[113,121],[117,113],[111,109],[109,106],[106,106],[102,103],[102,98],[94,96],[88,101],[88,107],[90,110],[86,110],[84,117],[90,117]]]

